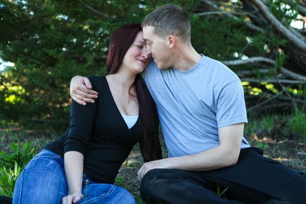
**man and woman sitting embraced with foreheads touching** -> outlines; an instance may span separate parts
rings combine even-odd
[[[243,137],[241,81],[199,55],[190,30],[188,14],[175,5],[152,11],[142,29],[120,27],[111,40],[108,75],[72,79],[69,129],[24,168],[13,203],[85,203],[84,196],[86,203],[135,203],[113,183],[137,142],[147,204],[305,203],[306,179],[263,157]],[[228,187],[227,199],[217,186]]]

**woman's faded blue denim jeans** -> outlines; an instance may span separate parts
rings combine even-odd
[[[87,188],[86,180],[89,181]],[[82,191],[88,204],[136,203],[129,191],[111,184],[96,184],[86,174],[83,175]],[[19,175],[15,184],[13,204],[60,204],[62,198],[67,195],[64,160],[52,151],[42,150]],[[85,198],[78,202],[82,203],[85,203]]]

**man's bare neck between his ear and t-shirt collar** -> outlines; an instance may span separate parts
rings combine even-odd
[[[177,52],[175,55],[175,59],[177,60],[172,66],[172,68],[177,70],[187,71],[192,69],[202,59],[202,56],[200,56],[192,46],[184,46],[178,50],[181,51]]]

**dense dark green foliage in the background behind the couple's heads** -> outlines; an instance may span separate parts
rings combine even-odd
[[[69,83],[74,75],[106,73],[108,46],[114,31],[122,24],[138,22],[156,7],[180,5],[190,16],[192,44],[198,53],[216,60],[278,56],[276,68],[286,60],[278,47],[287,43],[271,27],[263,33],[250,31],[244,15],[199,16],[197,1],[185,0],[82,0],[79,1],[2,1],[0,3],[0,58],[13,62],[0,72],[0,121],[18,122],[36,127],[42,121],[63,129],[70,111]],[[272,13],[285,24],[297,15],[299,1],[267,1]],[[292,4],[291,4],[292,3]],[[241,9],[241,2],[222,2],[228,12]],[[287,6],[286,6],[287,5]],[[95,9],[94,12],[92,7]],[[256,64],[231,67],[256,72],[266,77]],[[268,74],[271,78],[275,70]],[[259,87],[259,89],[261,89]],[[297,88],[295,88],[297,89]],[[304,94],[300,91],[298,94]]]

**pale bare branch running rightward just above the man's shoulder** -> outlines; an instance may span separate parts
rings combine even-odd
[[[248,64],[248,63],[257,63],[257,62],[265,62],[268,64],[275,64],[274,60],[271,60],[269,58],[264,58],[264,57],[252,57],[249,58],[247,60],[231,60],[231,61],[223,61],[222,63],[226,66],[232,66],[232,65],[242,65],[242,64]],[[293,79],[296,80],[301,80],[306,82],[306,77],[304,77],[303,75],[300,75],[298,73],[295,73],[293,71],[290,71],[284,67],[280,67],[279,68],[282,73],[286,73],[287,75],[289,75],[290,77],[292,77]]]

